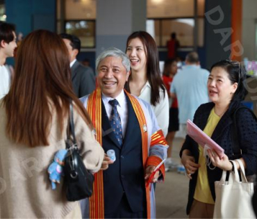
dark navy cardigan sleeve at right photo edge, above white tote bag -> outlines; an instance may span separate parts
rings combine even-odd
[[[253,175],[257,171],[257,122],[247,109],[238,111],[236,121],[242,158],[246,163],[245,173]]]

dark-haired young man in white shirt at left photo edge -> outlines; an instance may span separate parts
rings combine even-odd
[[[5,64],[6,58],[13,57],[16,47],[15,26],[6,22],[0,22],[0,99],[10,89],[12,75]]]

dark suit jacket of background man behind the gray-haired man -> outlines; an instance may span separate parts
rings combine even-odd
[[[94,73],[76,60],[72,65],[72,88],[78,98],[89,95],[95,89]]]

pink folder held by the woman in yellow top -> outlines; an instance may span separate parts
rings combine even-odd
[[[220,147],[217,143],[215,143],[213,139],[207,136],[206,133],[204,133],[204,131],[199,129],[199,127],[197,127],[197,125],[194,124],[194,122],[188,120],[187,129],[188,136],[194,139],[203,148],[205,147],[205,145],[208,145],[208,147],[215,150],[219,158],[222,159],[222,157],[224,156],[224,149]]]

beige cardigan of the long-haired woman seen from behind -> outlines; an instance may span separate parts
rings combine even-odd
[[[13,143],[6,136],[6,111],[0,100],[0,218],[65,218],[75,206],[67,202],[63,181],[51,189],[47,168],[58,149],[65,148],[66,127],[58,129],[56,112],[49,135],[49,146],[28,147]],[[92,131],[74,110],[75,134],[82,145],[84,163],[97,172],[103,149]],[[19,130],[17,130],[19,131]]]

